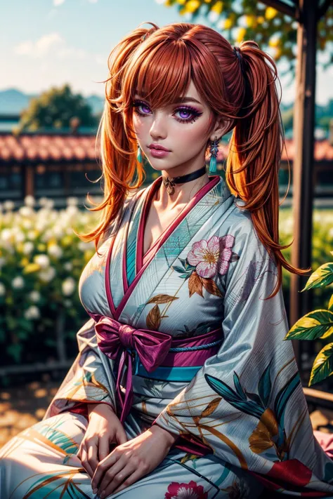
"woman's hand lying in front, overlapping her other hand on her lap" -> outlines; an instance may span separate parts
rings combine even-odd
[[[178,435],[158,425],[117,446],[107,458],[100,461],[93,475],[93,493],[101,499],[122,491],[162,463]]]

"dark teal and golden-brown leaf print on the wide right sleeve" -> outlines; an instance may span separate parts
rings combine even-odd
[[[216,393],[221,395],[228,404],[242,413],[259,419],[258,425],[249,436],[249,448],[251,448],[252,452],[260,454],[269,448],[274,448],[279,460],[288,459],[292,434],[287,439],[284,424],[285,409],[287,401],[301,383],[298,372],[289,378],[277,397],[275,397],[274,411],[268,406],[272,386],[270,364],[268,364],[259,379],[257,393],[250,393],[244,390],[240,383],[240,378],[235,371],[233,375],[235,390],[222,380],[214,378],[214,376],[205,374],[204,377],[208,385]],[[301,421],[298,423],[300,424]],[[293,432],[294,430],[295,428]]]

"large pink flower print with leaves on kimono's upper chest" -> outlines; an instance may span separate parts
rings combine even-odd
[[[208,241],[201,239],[192,245],[185,260],[179,258],[183,267],[173,267],[182,279],[188,279],[190,297],[198,293],[202,298],[202,287],[212,295],[223,297],[214,279],[216,274],[228,272],[230,262],[240,257],[232,251],[235,237],[227,234],[223,237],[213,236]]]

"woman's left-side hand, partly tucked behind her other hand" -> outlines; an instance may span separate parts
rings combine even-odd
[[[98,462],[110,452],[110,444],[124,444],[126,432],[108,404],[89,404],[89,424],[79,446],[77,457],[93,478]]]

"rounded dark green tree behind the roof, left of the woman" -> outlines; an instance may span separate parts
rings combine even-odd
[[[71,119],[80,126],[96,126],[96,117],[81,94],[74,94],[69,85],[41,93],[30,101],[20,117],[19,131],[36,131],[51,128],[70,128]]]

